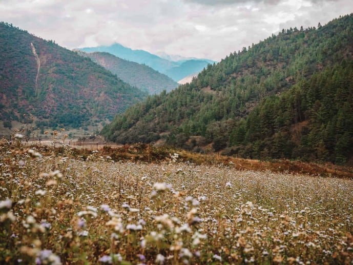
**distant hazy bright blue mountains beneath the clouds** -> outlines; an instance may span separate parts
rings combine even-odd
[[[183,57],[178,57],[180,58],[180,60],[178,61],[168,60],[152,53],[149,53],[147,51],[132,50],[117,43],[111,46],[87,47],[79,48],[78,50],[88,53],[108,52],[110,54],[115,55],[116,57],[129,60],[138,64],[147,65],[162,74],[168,75],[174,81],[179,81],[180,79],[191,74],[197,74],[204,67],[207,67],[208,64],[214,63],[214,61],[208,59],[186,59]],[[165,57],[175,58],[175,55],[165,55]]]

